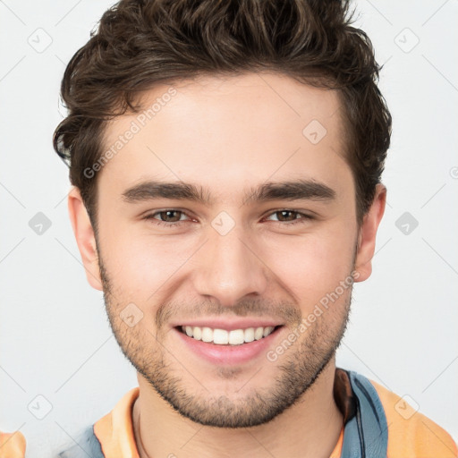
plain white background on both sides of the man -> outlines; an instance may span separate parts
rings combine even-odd
[[[0,1],[0,430],[20,429],[28,457],[48,456],[137,385],[102,293],[86,282],[68,169],[52,148],[65,64],[111,4]],[[356,26],[386,63],[380,88],[394,132],[374,271],[355,285],[337,363],[408,394],[457,440],[458,2],[356,6]],[[28,42],[37,34],[42,45],[52,39],[41,53]],[[29,226],[38,212],[51,222],[42,235]],[[404,212],[419,222],[409,234],[395,225]],[[43,420],[28,410],[44,414],[47,402]]]

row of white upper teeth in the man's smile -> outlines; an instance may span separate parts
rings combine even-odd
[[[245,342],[253,342],[253,340],[267,337],[274,330],[273,326],[267,327],[248,327],[247,329],[233,329],[226,331],[225,329],[212,329],[211,327],[198,326],[182,326],[182,331],[186,335],[193,337],[196,340],[203,342],[213,342],[213,344],[231,344],[240,345]]]

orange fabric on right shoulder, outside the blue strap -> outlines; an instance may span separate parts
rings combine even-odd
[[[388,428],[388,458],[456,458],[454,439],[406,400],[369,380],[382,403]]]

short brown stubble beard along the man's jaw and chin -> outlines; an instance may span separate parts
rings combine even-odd
[[[240,393],[234,396],[212,394],[205,388],[205,376],[202,377],[203,380],[199,380],[195,374],[191,375],[192,371],[177,361],[180,358],[175,359],[167,351],[163,344],[163,333],[158,330],[157,335],[153,335],[148,329],[127,327],[123,323],[119,317],[123,304],[115,301],[112,283],[100,256],[99,266],[106,313],[124,356],[174,411],[205,426],[247,428],[275,419],[297,403],[314,385],[335,356],[348,324],[352,287],[346,292],[343,303],[332,305],[340,308],[337,323],[335,316],[331,317],[333,319],[324,318],[328,313],[326,310],[301,335],[301,341],[297,340],[276,360],[273,384],[257,388],[250,387],[248,382],[243,386],[242,391],[246,393],[243,397]],[[266,358],[265,364],[270,365],[273,362]],[[238,373],[237,369],[220,368],[217,371],[218,377],[225,379],[225,382],[227,379],[236,378]],[[245,374],[244,377],[247,378],[248,375]],[[242,381],[239,382],[242,384]],[[194,388],[189,388],[190,385]]]

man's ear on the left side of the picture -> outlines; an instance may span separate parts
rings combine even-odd
[[[68,212],[88,282],[96,290],[103,291],[98,266],[96,237],[80,190],[75,186],[68,194]]]

